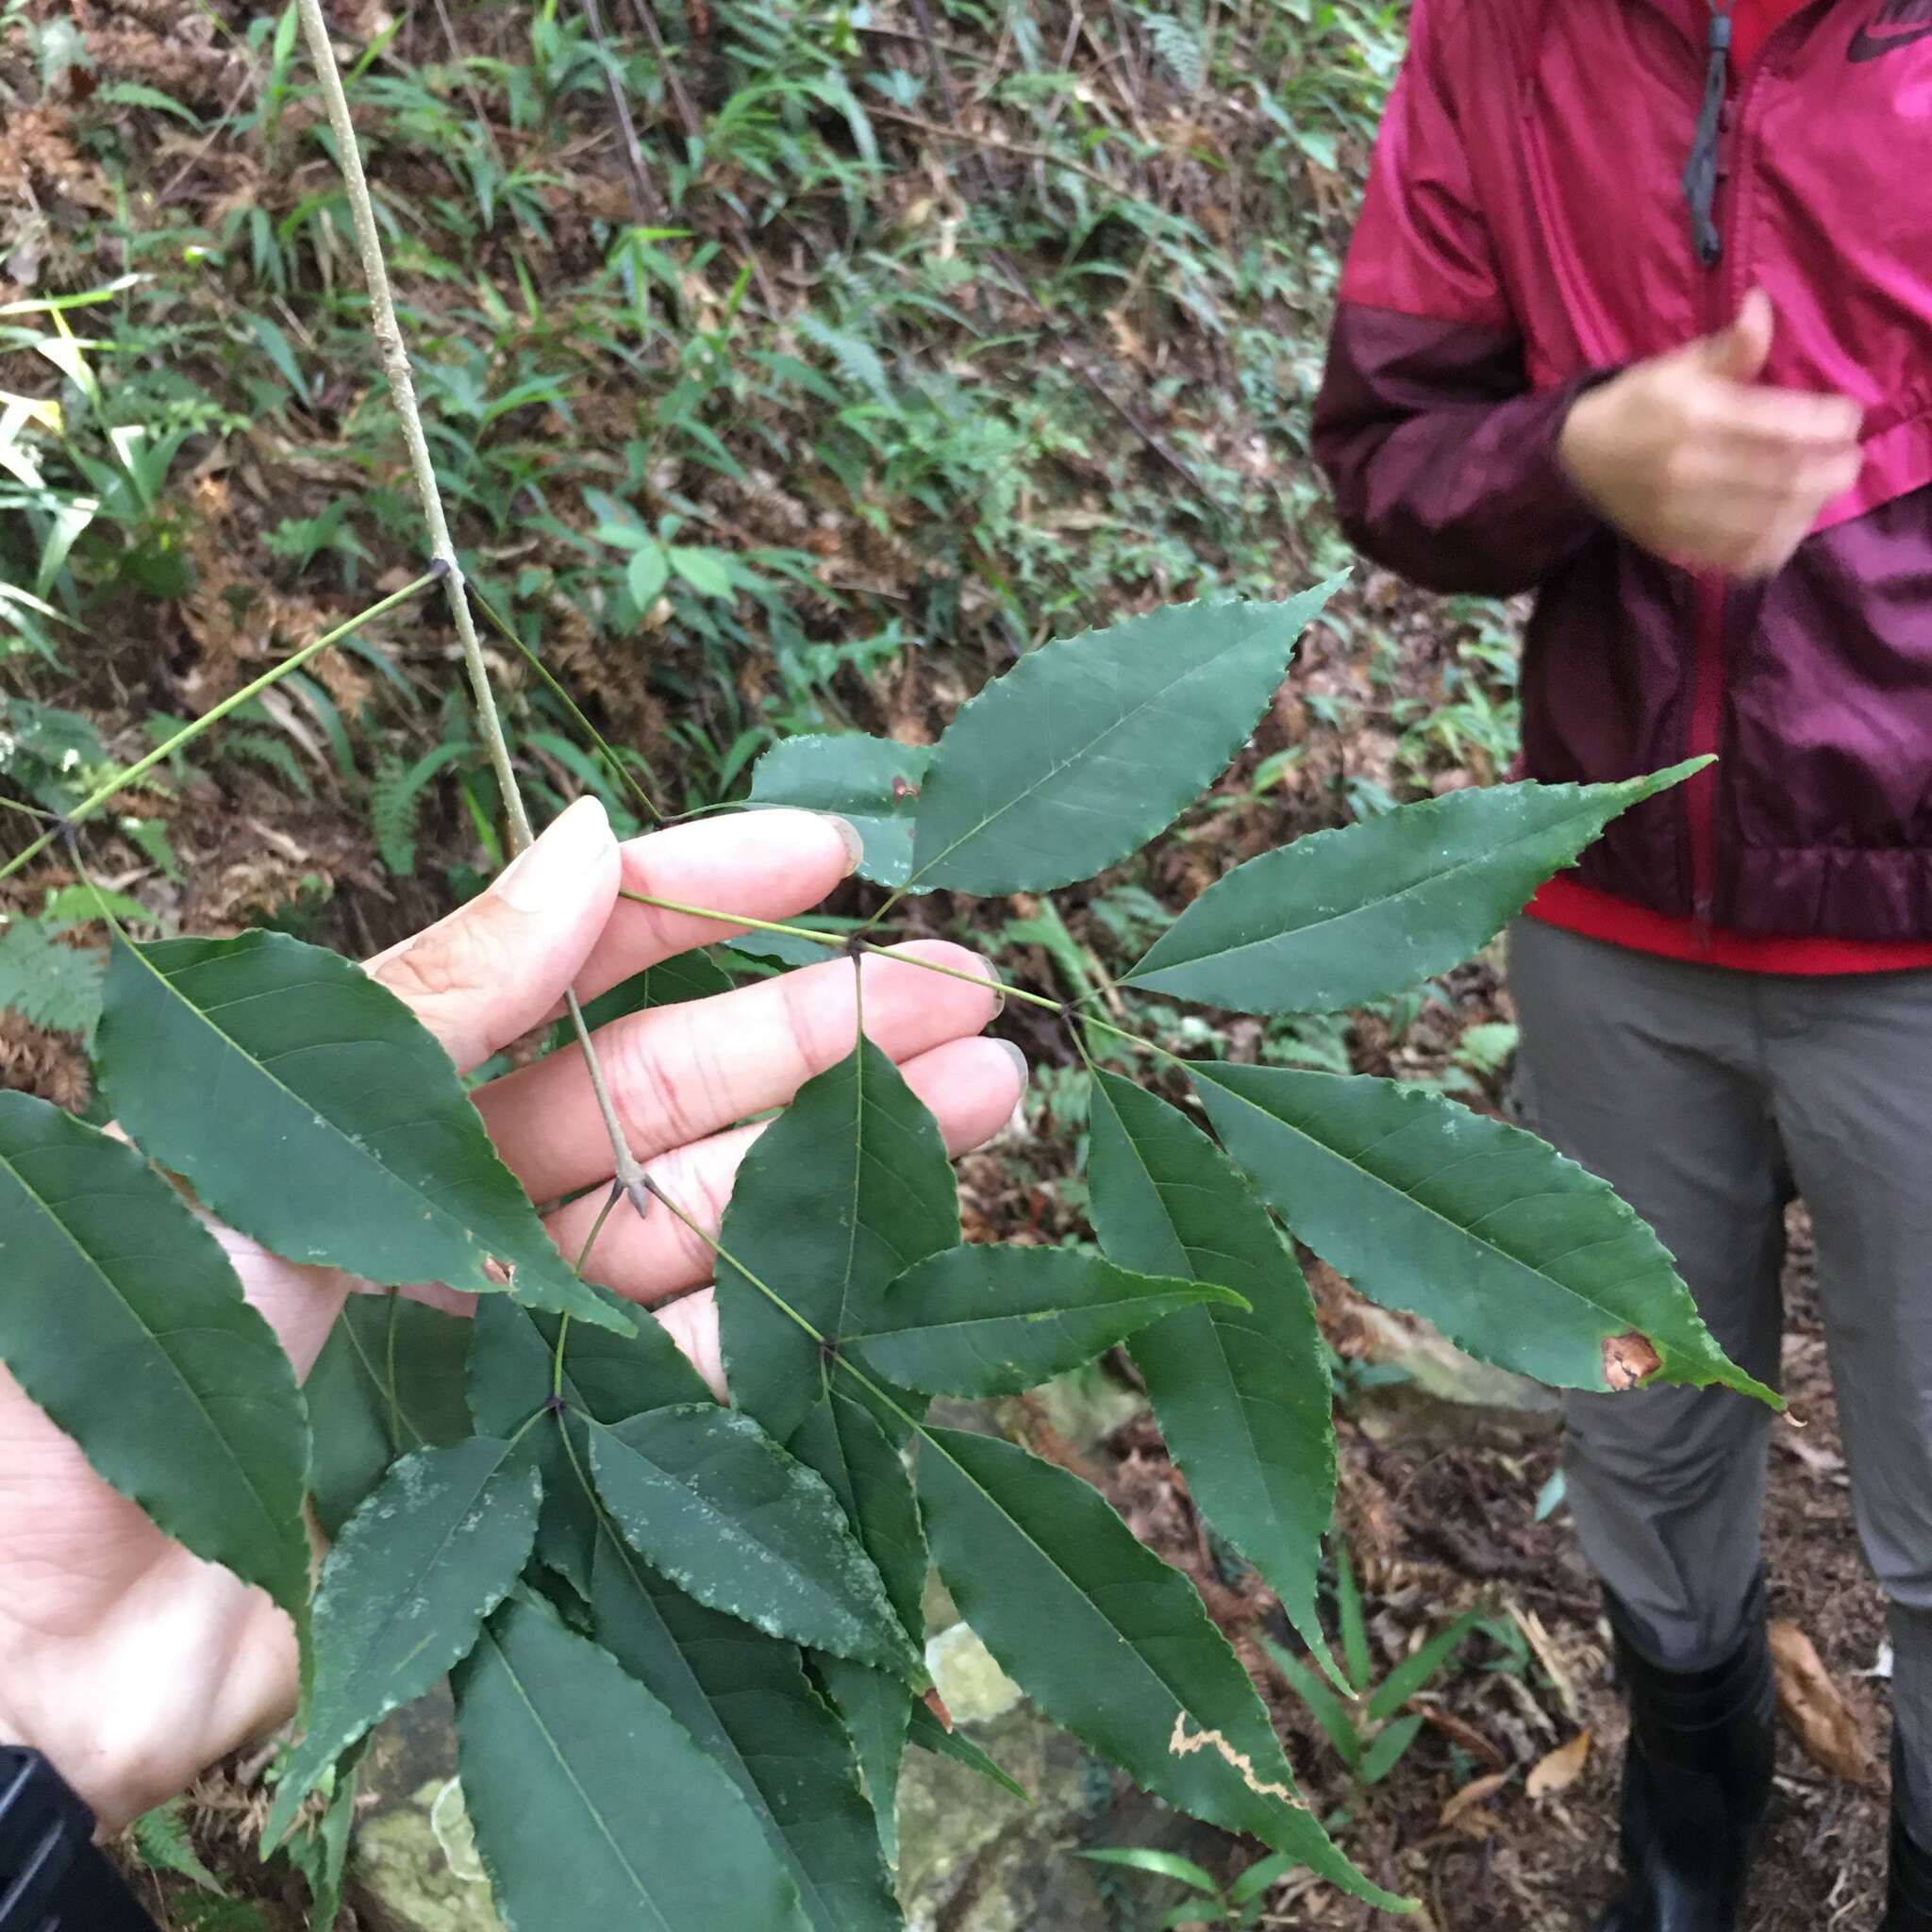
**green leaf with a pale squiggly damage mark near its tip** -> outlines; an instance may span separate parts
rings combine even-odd
[[[927,1430],[920,1505],[960,1615],[1055,1723],[1179,1810],[1405,1907],[1329,1843],[1194,1586],[1097,1490],[1012,1443]]]

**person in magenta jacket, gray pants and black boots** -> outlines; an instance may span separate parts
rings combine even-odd
[[[1714,757],[1511,935],[1532,1122],[1776,1379],[1803,1192],[1932,1932],[1932,0],[1416,0],[1316,408],[1352,541],[1534,591],[1524,769]],[[1578,1395],[1631,1698],[1607,1932],[1739,1924],[1774,1420]]]

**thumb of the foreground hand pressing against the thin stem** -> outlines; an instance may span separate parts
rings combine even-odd
[[[468,906],[365,972],[468,1072],[564,997],[616,904],[618,850],[595,798],[580,798]]]

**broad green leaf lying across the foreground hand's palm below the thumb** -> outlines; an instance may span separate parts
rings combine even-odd
[[[284,933],[114,941],[100,1078],[124,1128],[292,1262],[626,1323],[551,1246],[450,1057],[394,993]]]

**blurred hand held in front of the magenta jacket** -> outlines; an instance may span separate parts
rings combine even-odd
[[[1557,440],[1571,481],[1656,556],[1772,576],[1861,456],[1847,396],[1756,386],[1770,346],[1772,303],[1752,290],[1721,334],[1588,390]]]

